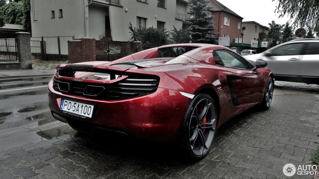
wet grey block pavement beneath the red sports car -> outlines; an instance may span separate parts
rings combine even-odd
[[[171,143],[87,137],[65,123],[51,124],[0,136],[0,178],[286,178],[285,163],[307,165],[318,147],[318,110],[318,85],[276,82],[271,108],[230,120],[197,162],[185,160]]]

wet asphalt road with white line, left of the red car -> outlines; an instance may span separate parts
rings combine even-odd
[[[15,130],[52,120],[48,110],[51,77],[0,79],[0,130]]]

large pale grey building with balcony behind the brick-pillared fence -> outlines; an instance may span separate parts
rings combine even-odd
[[[47,54],[58,54],[60,36],[61,54],[67,54],[72,36],[100,39],[110,33],[114,41],[130,40],[129,22],[180,29],[188,24],[188,11],[187,0],[31,0],[32,37],[45,37]]]

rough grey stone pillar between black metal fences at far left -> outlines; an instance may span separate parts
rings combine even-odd
[[[22,69],[32,69],[30,33],[16,32],[17,34],[17,52]]]

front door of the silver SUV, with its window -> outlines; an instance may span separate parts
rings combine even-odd
[[[264,54],[267,68],[275,75],[300,75],[301,52],[305,43],[290,43]]]

